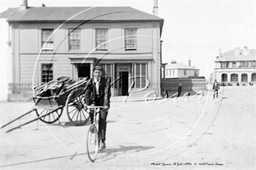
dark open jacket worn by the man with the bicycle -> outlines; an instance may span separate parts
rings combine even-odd
[[[96,97],[96,88],[94,78],[90,79],[86,84],[86,89],[84,92],[84,100],[86,105],[97,105],[97,106],[110,106],[111,91],[109,79],[106,77],[101,77],[99,82],[99,98]]]

